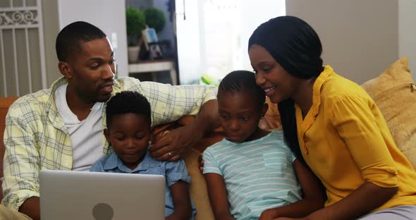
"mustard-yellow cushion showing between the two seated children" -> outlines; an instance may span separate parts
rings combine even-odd
[[[198,157],[200,152],[192,149],[192,152],[188,154],[183,160],[185,161],[186,168],[192,182],[190,184],[189,193],[192,201],[197,207],[197,214],[195,220],[214,220],[214,214],[212,213],[211,205],[209,204],[209,197],[207,191],[207,184],[205,183],[204,176],[198,169]]]

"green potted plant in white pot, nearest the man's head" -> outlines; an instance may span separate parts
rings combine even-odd
[[[140,37],[146,27],[145,15],[137,8],[126,8],[126,28],[128,39],[128,61],[137,62],[140,51]]]

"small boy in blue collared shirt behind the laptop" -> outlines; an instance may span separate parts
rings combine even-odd
[[[166,219],[193,219],[185,163],[149,156],[151,123],[150,104],[142,94],[125,91],[112,97],[106,106],[104,136],[114,152],[99,159],[90,171],[164,175]]]

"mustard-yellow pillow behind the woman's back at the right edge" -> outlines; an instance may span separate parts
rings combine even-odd
[[[408,57],[361,85],[386,118],[397,147],[416,169],[416,86]]]

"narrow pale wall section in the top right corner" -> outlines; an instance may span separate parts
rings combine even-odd
[[[398,56],[409,56],[409,68],[416,80],[416,1],[398,1]]]

